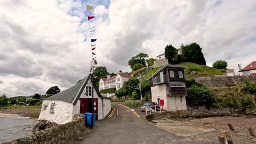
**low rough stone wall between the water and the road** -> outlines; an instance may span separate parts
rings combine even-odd
[[[85,127],[85,118],[83,114],[74,115],[74,121],[66,124],[56,125],[45,130],[36,131],[33,134],[19,139],[4,142],[3,144],[20,144],[20,143],[65,143],[68,141],[77,140],[88,133],[89,130]]]

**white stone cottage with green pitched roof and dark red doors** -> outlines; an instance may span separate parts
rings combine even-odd
[[[39,120],[48,120],[57,124],[71,122],[74,114],[91,112],[92,83],[89,74],[83,80],[63,92],[43,100]],[[103,97],[94,83],[94,113],[96,120],[103,119],[111,110],[111,101]]]

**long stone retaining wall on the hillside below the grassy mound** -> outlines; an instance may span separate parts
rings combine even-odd
[[[225,75],[186,75],[185,79],[195,79],[207,87],[234,86],[243,83],[245,79],[256,82],[256,75],[225,76]]]

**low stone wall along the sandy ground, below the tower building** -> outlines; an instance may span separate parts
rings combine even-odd
[[[230,108],[212,108],[206,109],[203,106],[200,106],[196,109],[189,107],[187,110],[180,111],[164,111],[156,112],[147,116],[148,121],[154,119],[177,119],[177,118],[189,118],[189,117],[212,117],[212,116],[230,116],[232,113],[240,113],[240,110],[234,110]],[[247,109],[247,114],[256,115],[256,109]]]

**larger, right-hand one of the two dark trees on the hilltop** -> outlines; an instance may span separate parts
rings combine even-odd
[[[184,56],[188,62],[200,65],[206,65],[205,57],[203,57],[202,48],[199,44],[191,43],[183,48]]]

